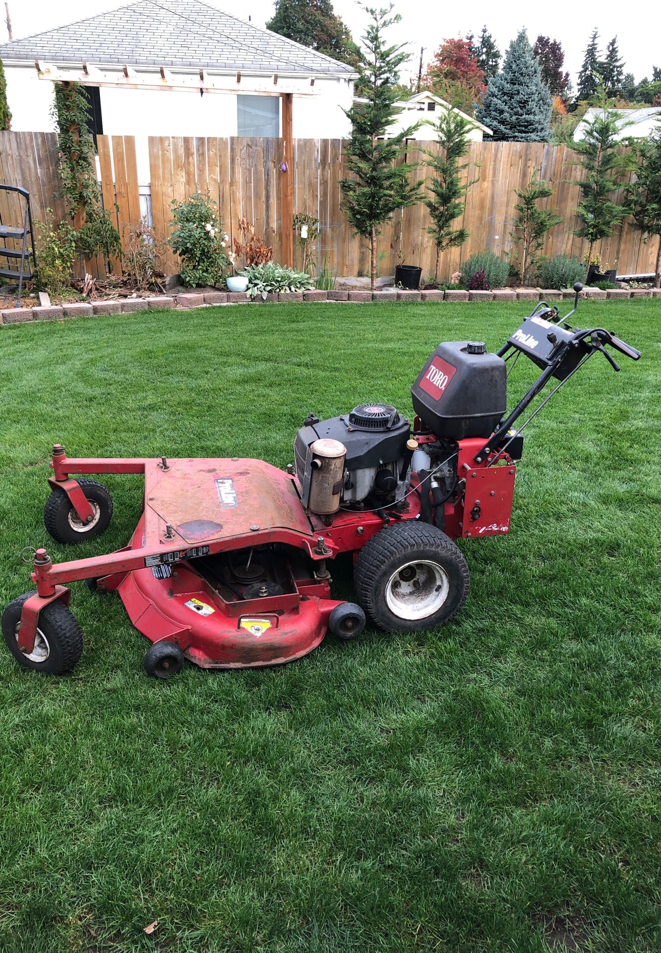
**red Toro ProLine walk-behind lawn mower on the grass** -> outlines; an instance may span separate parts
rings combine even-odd
[[[262,460],[73,459],[52,450],[44,523],[60,543],[98,536],[112,500],[82,474],[144,474],[144,512],[128,546],[53,564],[34,553],[36,592],[2,617],[21,665],[67,672],[83,650],[67,583],[116,590],[150,642],[145,669],[158,678],[189,659],[202,668],[246,668],[300,659],[330,629],[355,639],[365,613],[395,632],[432,629],[461,608],[469,570],[453,541],[510,530],[521,431],[605,345],[640,352],[603,328],[581,331],[540,302],[497,354],[479,341],[439,344],[411,388],[411,424],[394,407],[366,403],[320,420],[294,442],[295,470]],[[507,377],[519,355],[541,369],[507,413]],[[557,383],[518,429],[548,381]],[[330,598],[329,562],[354,555],[360,605]],[[361,608],[362,606],[362,608]],[[365,610],[365,611],[364,611]]]

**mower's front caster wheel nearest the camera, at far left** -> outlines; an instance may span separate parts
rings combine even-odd
[[[30,655],[18,647],[18,625],[26,599],[34,593],[15,598],[2,614],[2,634],[11,655],[25,668],[45,675],[70,672],[83,654],[83,633],[74,616],[59,599],[39,613],[37,638]]]

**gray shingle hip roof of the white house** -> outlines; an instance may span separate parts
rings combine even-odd
[[[265,72],[354,73],[323,53],[260,30],[199,0],[140,0],[0,46],[0,58],[95,66],[203,67]]]

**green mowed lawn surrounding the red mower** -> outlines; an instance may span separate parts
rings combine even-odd
[[[439,340],[495,350],[524,309],[0,329],[3,605],[30,588],[22,548],[47,541],[53,441],[284,467],[310,411],[409,414]],[[74,583],[86,647],[71,676],[21,670],[2,646],[2,951],[661,948],[661,303],[586,302],[576,320],[643,358],[615,375],[595,355],[535,417],[511,535],[461,543],[471,596],[445,628],[161,682],[120,599]],[[77,555],[124,545],[140,514],[136,477],[105,482],[115,516]],[[333,569],[349,596],[350,560]]]

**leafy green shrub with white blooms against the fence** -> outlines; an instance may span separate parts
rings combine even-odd
[[[170,247],[182,260],[181,280],[189,288],[219,284],[233,263],[225,251],[230,236],[223,233],[215,205],[209,193],[171,203]]]

